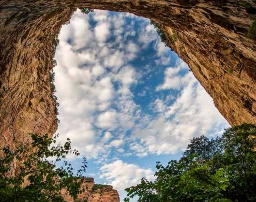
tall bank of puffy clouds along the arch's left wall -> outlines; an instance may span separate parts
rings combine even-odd
[[[84,15],[77,10],[59,35],[54,68],[61,121],[57,132],[60,141],[70,138],[72,146],[88,158],[108,155],[112,147],[122,153],[124,140],[111,130],[120,124],[117,130],[124,134],[134,125],[132,113],[137,106],[130,87],[137,76],[127,64],[137,57],[139,47],[120,40],[125,17],[98,10]],[[111,36],[117,40],[106,43]]]

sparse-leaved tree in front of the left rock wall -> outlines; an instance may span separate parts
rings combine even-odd
[[[87,167],[86,159],[83,158],[82,167],[74,176],[71,164],[64,159],[69,153],[78,156],[79,152],[71,149],[69,139],[64,145],[52,146],[58,136],[30,135],[32,144],[22,145],[13,152],[8,147],[1,150],[0,201],[63,202],[62,189],[76,199],[77,194],[85,191],[81,184]],[[56,166],[58,162],[62,163],[60,167]]]

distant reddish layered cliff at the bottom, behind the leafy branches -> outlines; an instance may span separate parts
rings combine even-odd
[[[119,202],[119,194],[112,186],[94,184],[93,178],[86,178],[82,184],[86,190],[78,195],[78,200],[87,202]],[[74,199],[68,195],[65,190],[62,196],[67,202],[74,202]]]

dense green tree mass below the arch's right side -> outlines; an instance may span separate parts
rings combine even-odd
[[[221,138],[193,138],[180,160],[157,162],[155,181],[127,188],[138,202],[256,201],[256,126],[243,124]]]

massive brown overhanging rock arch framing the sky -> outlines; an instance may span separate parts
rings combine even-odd
[[[125,11],[159,23],[231,125],[256,123],[256,0],[0,0],[0,146],[57,128],[50,70],[76,8]]]

